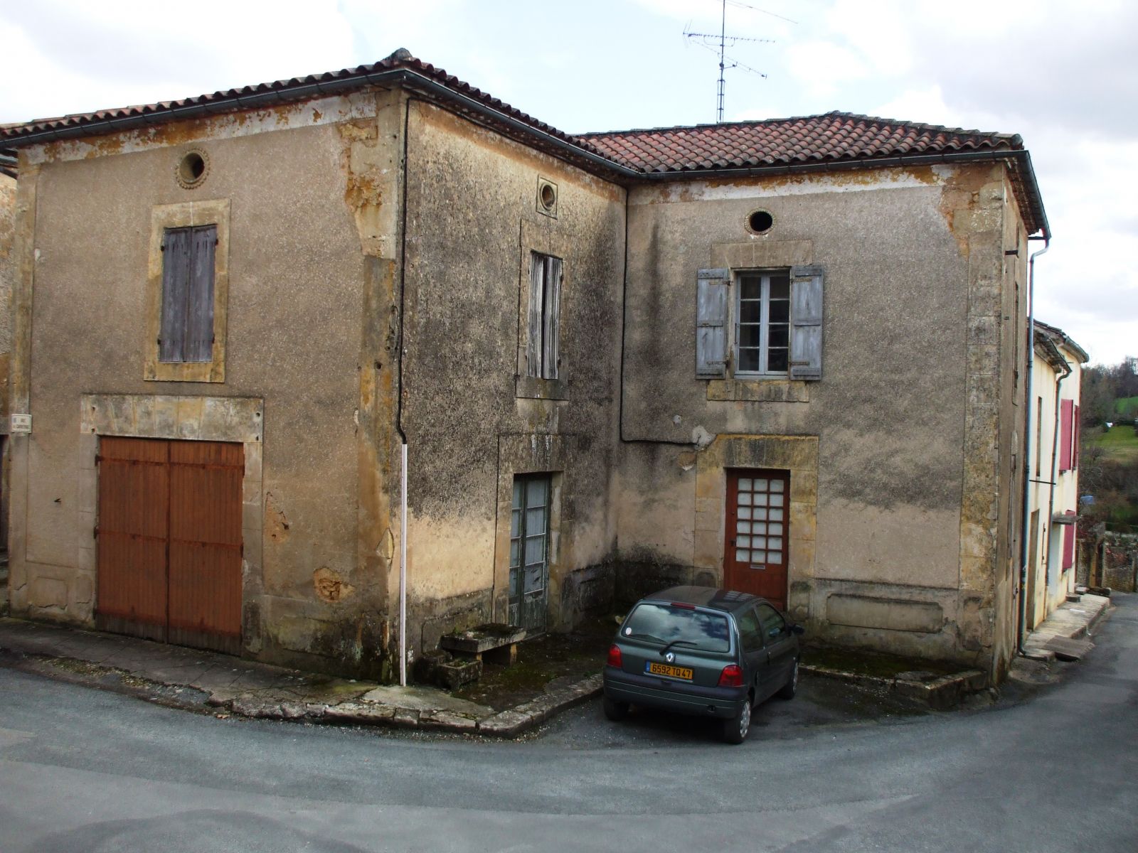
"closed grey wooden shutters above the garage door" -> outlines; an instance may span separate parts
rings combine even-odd
[[[159,362],[213,361],[216,246],[216,225],[165,231]]]

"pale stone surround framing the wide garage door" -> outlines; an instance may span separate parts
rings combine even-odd
[[[187,441],[233,441],[244,445],[241,481],[241,598],[244,644],[259,636],[250,626],[249,604],[264,590],[262,563],[262,441],[264,400],[253,397],[174,397],[162,395],[99,395],[81,397],[79,445],[79,569],[98,585],[94,529],[98,523],[100,436],[163,438]],[[92,596],[92,607],[97,605]]]

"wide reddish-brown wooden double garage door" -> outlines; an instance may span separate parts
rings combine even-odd
[[[241,651],[241,445],[101,437],[101,630]]]

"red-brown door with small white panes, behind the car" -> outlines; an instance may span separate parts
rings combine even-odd
[[[789,472],[729,469],[724,587],[785,610],[789,544]]]

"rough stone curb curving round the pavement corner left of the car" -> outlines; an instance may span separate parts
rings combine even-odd
[[[239,717],[255,720],[389,726],[467,735],[477,732],[493,737],[513,738],[561,711],[596,696],[601,689],[602,677],[597,673],[568,687],[553,690],[545,696],[538,696],[530,702],[483,718],[440,709],[420,711],[374,702],[348,701],[335,705],[279,702],[262,699],[254,694],[246,694],[217,704]],[[213,701],[211,704],[214,704]]]

